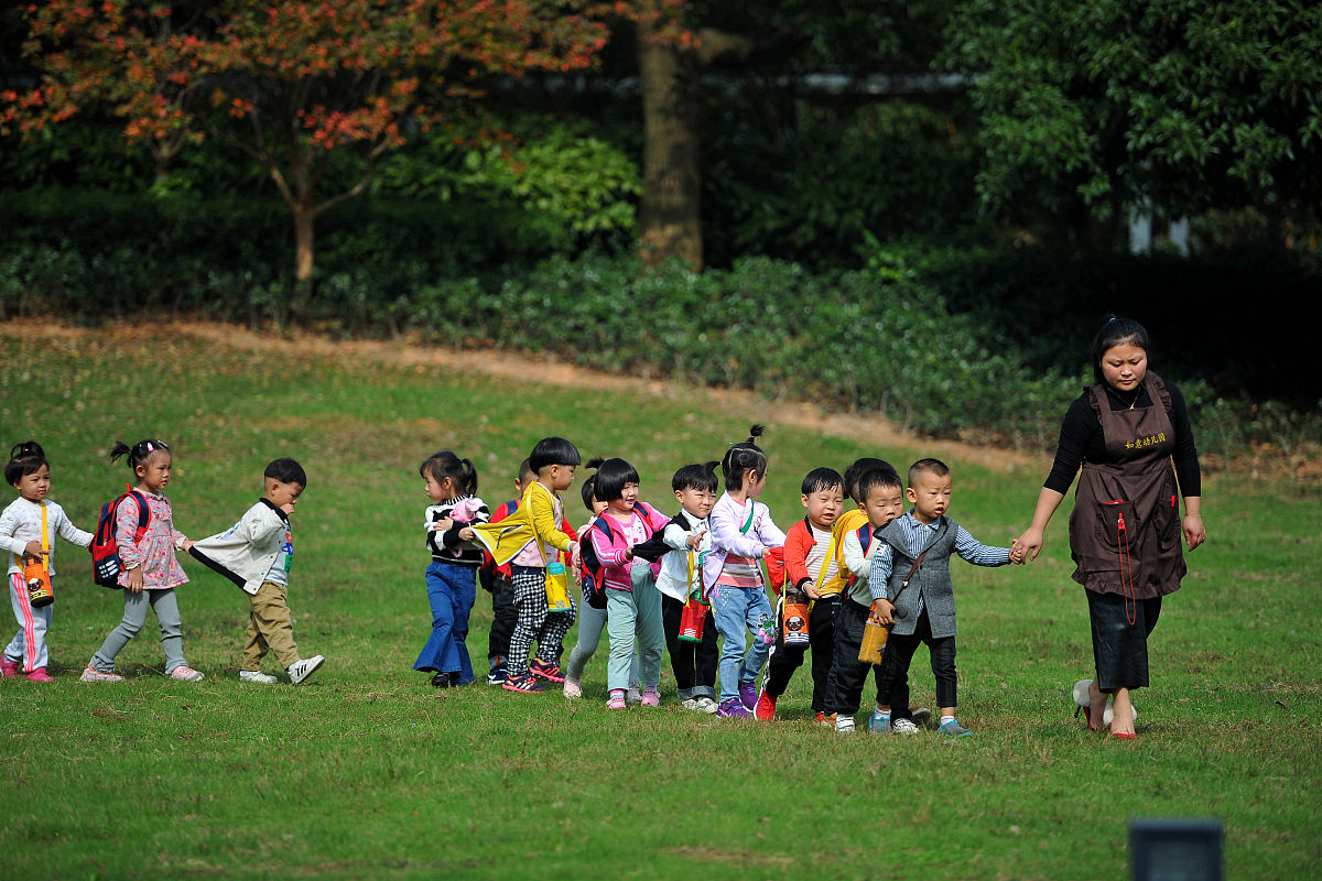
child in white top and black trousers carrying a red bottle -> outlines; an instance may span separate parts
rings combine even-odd
[[[717,465],[685,465],[670,478],[680,512],[658,536],[633,547],[635,556],[661,560],[657,590],[661,592],[661,623],[680,705],[703,713],[717,712],[717,662],[720,655],[717,625],[707,621],[702,642],[680,639],[680,622],[689,598],[706,600],[702,563],[711,551],[707,515],[717,502]]]

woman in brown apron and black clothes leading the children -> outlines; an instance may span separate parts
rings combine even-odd
[[[1093,338],[1092,355],[1096,382],[1066,412],[1051,474],[1018,546],[1036,559],[1047,523],[1081,466],[1069,552],[1077,565],[1073,580],[1088,597],[1097,670],[1088,689],[1088,728],[1101,730],[1107,696],[1113,695],[1110,733],[1133,740],[1129,692],[1147,686],[1147,634],[1161,598],[1178,590],[1185,575],[1181,530],[1191,551],[1207,532],[1188,411],[1179,391],[1147,370],[1147,332],[1112,317]]]

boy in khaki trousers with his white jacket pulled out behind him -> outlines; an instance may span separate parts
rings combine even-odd
[[[239,664],[239,682],[275,684],[260,671],[262,656],[271,650],[295,686],[325,663],[321,655],[301,658],[293,643],[290,617],[290,569],[293,565],[293,514],[308,476],[292,458],[278,458],[262,474],[263,493],[239,522],[184,549],[219,572],[249,594],[247,642]]]

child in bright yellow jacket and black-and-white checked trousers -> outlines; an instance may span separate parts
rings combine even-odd
[[[510,581],[518,622],[509,641],[509,676],[501,683],[506,691],[542,691],[538,678],[564,682],[559,651],[574,623],[574,609],[547,614],[546,567],[557,551],[568,551],[572,567],[578,568],[579,543],[563,531],[564,506],[559,493],[574,483],[574,469],[582,461],[574,444],[563,437],[543,437],[527,457],[537,478],[524,491],[518,510],[500,523],[483,523],[473,530],[497,565],[513,564]],[[543,652],[549,649],[557,652],[551,660],[535,659],[535,667],[529,664],[534,639]]]

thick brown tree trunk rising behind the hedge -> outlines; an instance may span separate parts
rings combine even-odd
[[[639,22],[642,75],[642,259],[681,258],[702,269],[702,166],[693,62]]]

